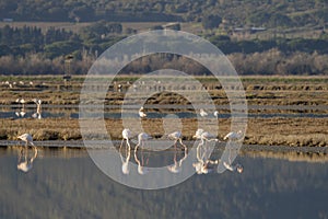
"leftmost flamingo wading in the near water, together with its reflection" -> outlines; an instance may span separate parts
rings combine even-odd
[[[33,168],[33,162],[37,157],[37,148],[33,143],[33,138],[30,134],[23,134],[17,138],[25,141],[25,147],[21,149],[19,154],[17,170],[26,173]],[[31,143],[34,149],[32,158],[28,158],[28,143]]]

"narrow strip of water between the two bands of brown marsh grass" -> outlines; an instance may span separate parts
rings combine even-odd
[[[118,118],[137,118],[138,106],[127,105],[121,111],[118,105],[106,105],[104,111],[105,118],[118,119]],[[148,112],[149,118],[162,118],[167,114],[174,113],[179,118],[196,118],[197,114],[192,111],[192,106],[185,105],[149,105],[150,110],[155,108],[157,112]],[[200,106],[199,106],[200,107]],[[230,118],[230,106],[222,105],[218,106],[220,111],[219,118]],[[284,118],[326,118],[328,117],[327,106],[295,106],[295,105],[249,105],[248,117],[250,118],[272,118],[272,117],[284,117]],[[31,118],[36,113],[34,105],[28,105],[24,110],[24,116],[20,115],[22,111],[20,105],[0,105],[0,118]],[[42,111],[42,118],[79,118],[79,105],[44,105]],[[214,118],[209,112],[209,118]],[[237,115],[236,115],[237,116]]]

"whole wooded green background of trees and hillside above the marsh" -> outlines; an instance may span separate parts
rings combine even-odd
[[[229,55],[241,74],[326,74],[325,7],[321,0],[4,0],[0,3],[0,14],[7,21],[0,25],[0,74],[62,74],[68,55],[74,57],[71,72],[85,74],[93,61],[120,39],[138,31],[163,28],[194,31],[209,39]],[[16,21],[49,24],[15,26]],[[73,27],[50,23],[59,21]],[[141,30],[126,22],[160,23],[140,23]],[[313,35],[303,37],[306,32]],[[145,57],[121,73],[144,73],[163,68],[163,62],[176,67],[185,61],[177,56],[155,61]],[[195,61],[188,65],[192,74],[208,73]]]

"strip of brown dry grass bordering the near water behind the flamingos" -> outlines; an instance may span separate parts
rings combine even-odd
[[[131,124],[127,122],[128,124]],[[220,139],[230,131],[230,119],[219,119]],[[160,138],[164,135],[163,120],[147,118],[141,122],[144,131]],[[197,129],[196,118],[181,119],[184,139],[191,140]],[[1,119],[0,138],[16,140],[16,136],[30,132],[35,140],[81,139],[78,119],[45,118]],[[328,146],[328,119],[326,118],[249,118],[245,143],[277,146]],[[120,119],[106,119],[106,128],[112,139],[121,139],[124,128]],[[133,129],[134,127],[129,127]]]

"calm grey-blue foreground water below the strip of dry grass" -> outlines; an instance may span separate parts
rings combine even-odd
[[[39,149],[27,173],[16,168],[17,149],[0,149],[0,218],[328,217],[325,161],[246,153],[236,159],[244,165],[242,174],[213,171],[173,187],[143,191],[106,176],[86,150]]]

